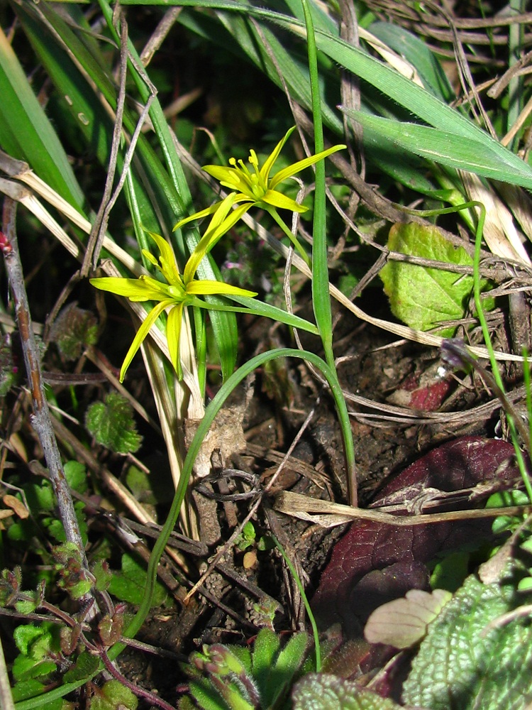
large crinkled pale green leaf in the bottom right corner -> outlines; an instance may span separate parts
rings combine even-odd
[[[403,701],[435,710],[529,707],[532,627],[528,616],[495,623],[516,603],[519,599],[511,584],[482,584],[475,575],[468,577],[428,627],[404,683]]]

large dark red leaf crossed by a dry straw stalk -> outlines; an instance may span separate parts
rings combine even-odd
[[[373,506],[411,505],[431,489],[457,491],[484,481],[519,478],[514,447],[481,437],[461,437],[443,444],[385,484]],[[487,491],[484,498],[489,494]],[[467,497],[464,498],[467,503]],[[471,504],[467,503],[470,507]],[[459,508],[453,501],[451,508]],[[463,507],[463,503],[462,503]],[[440,508],[441,509],[441,508]],[[438,553],[465,542],[485,539],[491,522],[431,523],[410,528],[357,521],[336,543],[322,574],[313,608],[322,628],[340,623],[348,638],[358,636],[373,609],[409,589],[428,589],[426,563]]]

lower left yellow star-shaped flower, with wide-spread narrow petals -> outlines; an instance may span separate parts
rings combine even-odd
[[[139,278],[119,278],[111,276],[92,278],[90,280],[92,285],[96,288],[110,291],[120,296],[126,296],[131,301],[158,301],[157,305],[153,307],[148,317],[141,324],[135,335],[135,339],[131,343],[131,347],[121,367],[121,382],[126,375],[126,370],[130,366],[135,353],[164,310],[169,309],[166,337],[170,351],[170,359],[179,378],[181,378],[182,369],[179,360],[179,337],[181,335],[184,307],[189,305],[207,309],[211,307],[208,303],[199,298],[199,296],[202,295],[252,297],[257,295],[254,291],[238,288],[237,286],[232,286],[222,281],[194,279],[201,259],[204,258],[206,253],[211,251],[218,239],[220,239],[223,234],[226,234],[226,231],[231,229],[235,222],[238,222],[238,219],[240,219],[242,207],[231,211],[234,202],[235,195],[228,195],[228,197],[220,203],[218,211],[214,214],[211,224],[209,224],[209,228],[199,241],[196,249],[194,249],[190,255],[184,267],[183,275],[179,274],[177,261],[175,260],[174,252],[170,244],[159,234],[148,232],[153,241],[155,241],[155,244],[157,244],[160,256],[157,260],[152,253],[145,249],[143,249],[143,254],[148,258],[148,261],[157,268],[157,271],[161,273],[166,283],[148,275],[141,275]]]

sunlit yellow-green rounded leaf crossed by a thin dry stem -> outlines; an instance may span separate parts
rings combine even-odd
[[[472,266],[473,263],[465,249],[450,244],[436,226],[394,224],[389,232],[388,249],[452,264]],[[428,330],[442,321],[463,317],[472,295],[472,276],[403,261],[389,261],[380,277],[392,313],[417,330]],[[443,328],[438,334],[452,337],[454,330]]]

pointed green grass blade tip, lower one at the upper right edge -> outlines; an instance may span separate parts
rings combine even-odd
[[[475,137],[460,136],[458,133],[431,126],[392,121],[351,109],[342,110],[359,121],[365,129],[389,141],[390,151],[397,145],[448,168],[467,170],[486,178],[532,187],[532,169],[487,133],[480,133]]]

